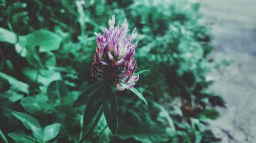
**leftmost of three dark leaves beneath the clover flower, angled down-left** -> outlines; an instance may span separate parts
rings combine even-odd
[[[99,90],[99,88],[102,87],[101,83],[96,83],[93,84],[91,86],[89,86],[88,88],[86,88],[80,95],[79,97],[76,99],[76,101],[73,103],[72,107],[79,107],[83,104],[86,104],[89,97],[96,92],[97,90]]]

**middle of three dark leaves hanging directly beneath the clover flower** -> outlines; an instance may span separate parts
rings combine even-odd
[[[84,110],[83,115],[83,126],[87,127],[90,122],[93,120],[93,117],[96,115],[98,110],[101,107],[102,97],[105,94],[105,86],[100,87],[96,92],[90,96],[87,101],[86,109]]]

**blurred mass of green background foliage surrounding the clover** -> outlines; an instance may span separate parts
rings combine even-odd
[[[219,116],[214,106],[225,105],[207,91],[206,77],[223,62],[207,56],[211,36],[199,8],[185,0],[0,0],[0,142],[79,140],[84,107],[71,105],[94,82],[94,32],[112,15],[137,27],[138,71],[150,71],[136,88],[148,107],[130,91],[117,92],[117,135],[101,117],[86,142],[219,141],[207,122]],[[33,130],[41,126],[54,134]]]

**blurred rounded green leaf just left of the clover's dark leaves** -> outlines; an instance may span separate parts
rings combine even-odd
[[[64,81],[55,80],[52,81],[47,89],[47,96],[50,104],[60,103],[61,97],[65,97],[68,93],[68,89]]]

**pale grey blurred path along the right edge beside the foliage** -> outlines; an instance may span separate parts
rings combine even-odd
[[[210,24],[214,56],[233,63],[212,71],[211,91],[221,95],[227,108],[210,127],[221,142],[256,142],[256,1],[199,0],[203,22]]]

